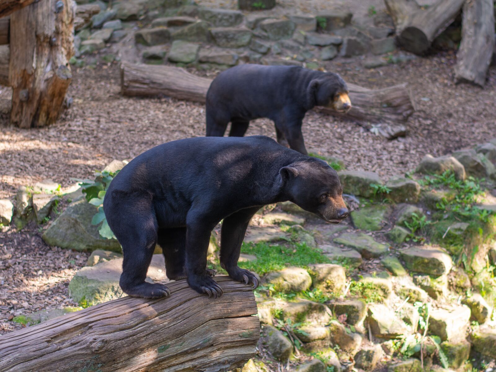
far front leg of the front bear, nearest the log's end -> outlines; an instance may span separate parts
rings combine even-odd
[[[241,244],[245,239],[248,223],[260,207],[242,209],[226,217],[222,222],[220,264],[234,280],[258,287],[255,275],[238,266]]]

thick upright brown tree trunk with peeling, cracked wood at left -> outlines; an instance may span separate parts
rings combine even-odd
[[[54,123],[72,75],[72,0],[42,0],[10,16],[10,122],[22,128]]]

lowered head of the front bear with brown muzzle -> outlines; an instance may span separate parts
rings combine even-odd
[[[281,168],[279,174],[289,200],[306,211],[335,224],[350,215],[339,176],[326,162],[309,157]]]

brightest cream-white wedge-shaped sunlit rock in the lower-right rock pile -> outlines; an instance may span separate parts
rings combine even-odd
[[[398,319],[393,311],[381,304],[369,304],[366,321],[377,338],[402,338],[411,332],[403,320]]]

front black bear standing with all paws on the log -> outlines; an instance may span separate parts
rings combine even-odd
[[[258,285],[238,267],[248,222],[263,205],[291,200],[332,223],[348,217],[339,177],[322,160],[265,136],[187,138],[130,161],[111,182],[103,207],[124,253],[120,285],[135,297],[170,294],[145,282],[155,244],[169,279],[187,279],[209,296],[222,289],[207,270],[210,233],[221,221],[220,262],[234,280]]]

